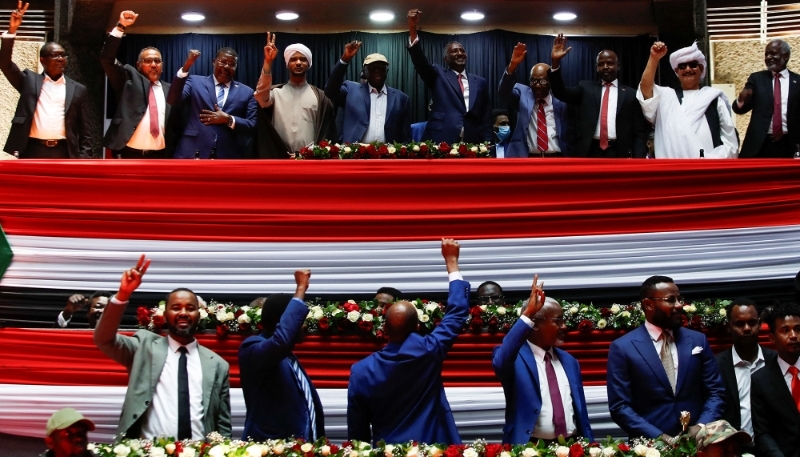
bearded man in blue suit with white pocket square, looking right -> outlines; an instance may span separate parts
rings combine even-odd
[[[725,387],[705,335],[682,328],[683,297],[666,276],[642,283],[645,323],[608,350],[607,391],[611,419],[631,438],[672,442],[681,432],[681,411],[691,414],[688,433],[722,417]]]

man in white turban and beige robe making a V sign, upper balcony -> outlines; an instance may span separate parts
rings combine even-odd
[[[310,143],[336,138],[335,110],[318,87],[306,81],[311,68],[311,50],[295,43],[283,51],[289,82],[272,85],[272,62],[278,56],[275,35],[267,32],[264,66],[256,85],[255,98],[261,106],[258,116],[258,155],[280,159]]]

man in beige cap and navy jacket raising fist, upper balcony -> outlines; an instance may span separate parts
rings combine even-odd
[[[386,85],[389,61],[383,54],[364,59],[367,82],[344,81],[347,66],[361,47],[353,41],[333,67],[325,95],[344,109],[341,141],[345,143],[407,143],[411,141],[411,114],[408,95]]]

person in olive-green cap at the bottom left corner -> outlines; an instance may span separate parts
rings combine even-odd
[[[94,422],[72,408],[59,409],[47,420],[44,443],[48,451],[41,457],[92,457],[88,450],[87,432],[94,430]]]

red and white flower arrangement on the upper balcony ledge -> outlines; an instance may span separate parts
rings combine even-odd
[[[489,143],[331,143],[320,141],[301,149],[297,160],[324,159],[454,159],[489,157]]]

